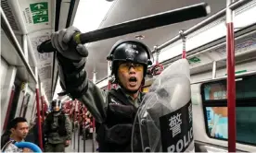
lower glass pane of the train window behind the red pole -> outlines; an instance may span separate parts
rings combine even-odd
[[[227,107],[206,107],[208,134],[227,139]],[[256,144],[256,107],[237,107],[237,141]]]

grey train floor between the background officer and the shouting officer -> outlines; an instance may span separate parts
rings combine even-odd
[[[78,140],[78,132],[73,133],[71,144],[69,147],[65,148],[65,152],[93,152],[93,140],[87,139],[85,140],[85,144],[84,144],[82,138],[83,136],[79,136],[80,140]],[[85,148],[83,148],[84,146]],[[94,150],[95,152],[97,147],[98,147],[97,142],[95,141],[95,150]]]

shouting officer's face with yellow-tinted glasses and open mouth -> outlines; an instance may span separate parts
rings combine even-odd
[[[140,64],[121,64],[118,69],[118,77],[122,86],[131,91],[138,90],[143,79],[143,69],[143,65]]]

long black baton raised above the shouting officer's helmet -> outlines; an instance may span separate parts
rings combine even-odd
[[[76,46],[79,43],[106,40],[146,29],[154,29],[190,19],[202,18],[209,15],[211,8],[207,3],[200,3],[193,6],[186,6],[159,14],[137,18],[120,24],[112,25],[103,29],[96,29],[86,33],[74,33],[69,45]],[[55,48],[51,40],[42,42],[37,50],[39,53],[52,53]]]

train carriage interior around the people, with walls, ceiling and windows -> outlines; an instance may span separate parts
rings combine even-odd
[[[37,112],[49,112],[50,103],[55,99],[62,101],[72,117],[79,115],[75,113],[80,113],[78,110],[83,108],[82,102],[58,95],[62,88],[56,54],[37,52],[37,46],[51,39],[54,31],[74,26],[84,33],[201,2],[211,6],[211,14],[207,17],[87,43],[89,57],[85,69],[88,78],[98,88],[108,90],[110,76],[106,57],[116,41],[138,39],[152,51],[155,46],[164,46],[154,53],[154,64],[148,68],[152,70],[154,65],[158,65],[154,69],[156,71],[181,59],[185,46],[190,69],[196,152],[227,152],[228,74],[224,0],[1,0],[1,132],[5,132],[9,121],[18,116],[25,117],[29,124],[34,123]],[[256,1],[237,0],[232,5],[236,7],[233,18],[236,145],[239,152],[252,152],[256,151]],[[190,31],[186,35],[186,43],[179,35],[180,30]],[[166,44],[170,40],[175,41]],[[159,75],[146,76],[143,92],[148,92]],[[39,95],[36,88],[39,88]],[[75,117],[71,121],[79,124]],[[95,138],[86,140],[86,149],[83,141],[75,130],[69,151],[96,151]]]

